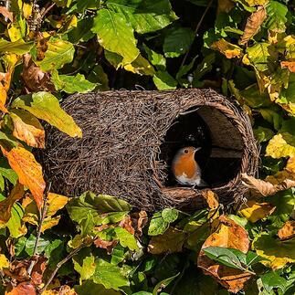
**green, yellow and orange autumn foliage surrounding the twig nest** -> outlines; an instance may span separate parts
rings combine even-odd
[[[6,2],[0,293],[294,294],[294,3]],[[204,210],[151,216],[110,195],[50,191],[32,153],[46,146],[43,123],[82,136],[60,100],[136,84],[213,87],[248,112],[261,179],[243,175],[251,194],[236,215],[212,192]]]

